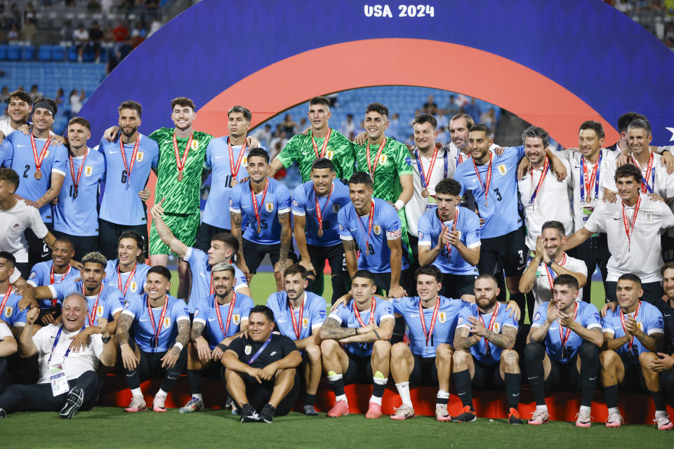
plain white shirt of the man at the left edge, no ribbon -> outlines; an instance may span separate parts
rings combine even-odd
[[[23,235],[26,229],[32,229],[38,239],[47,235],[38,209],[23,201],[9,210],[0,209],[0,250],[12,253],[19,263],[28,262],[28,243]]]

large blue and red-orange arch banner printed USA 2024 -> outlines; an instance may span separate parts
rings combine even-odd
[[[672,73],[674,53],[599,0],[203,0],[128,55],[81,114],[95,140],[133,99],[150,133],[173,126],[169,102],[187,96],[195,128],[225,135],[232,105],[257,125],[315,95],[408,85],[481,98],[566,147],[583,120],[601,121],[608,145],[618,117],[640,112],[666,145]]]

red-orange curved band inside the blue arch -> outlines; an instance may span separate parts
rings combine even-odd
[[[199,109],[194,126],[226,135],[227,110],[233,105],[251,109],[253,124],[258,124],[315,95],[387,85],[438,88],[480,98],[545,128],[564,147],[578,145],[578,128],[585,120],[600,121],[607,142],[618,138],[595,109],[546,76],[492,53],[423,39],[351,41],[286,58],[213,98]]]

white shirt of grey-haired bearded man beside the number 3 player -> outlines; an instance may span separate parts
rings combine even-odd
[[[567,169],[567,177],[564,180],[557,180],[557,175],[553,172],[552,166],[548,166],[548,173],[541,188],[538,189],[534,203],[529,200],[534,194],[538,181],[543,174],[543,166],[534,170],[533,175],[531,170],[522,176],[522,180],[517,181],[517,189],[520,190],[520,202],[524,207],[524,220],[527,223],[527,237],[525,243],[530,250],[536,249],[536,237],[541,235],[541,228],[543,223],[555,220],[564,225],[564,231],[567,236],[574,232],[574,220],[571,215],[571,203],[569,189],[571,179],[571,170],[569,163],[561,159],[564,167]]]

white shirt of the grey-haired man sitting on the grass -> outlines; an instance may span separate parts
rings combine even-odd
[[[98,357],[103,352],[103,340],[100,334],[91,335],[84,349],[81,349],[79,352],[70,351],[70,354],[65,359],[63,358],[65,351],[67,351],[72,343],[70,337],[77,335],[79,329],[74,332],[62,330],[58,344],[56,344],[54,349],[51,363],[49,362],[49,355],[51,354],[54,339],[60,327],[49,324],[33,335],[33,343],[37,347],[38,363],[40,365],[40,380],[37,382],[39,384],[49,382],[49,377],[51,377],[49,367],[57,363],[63,366],[67,380],[77,379],[77,377],[86,373],[86,371],[98,369],[98,364],[100,363]]]

